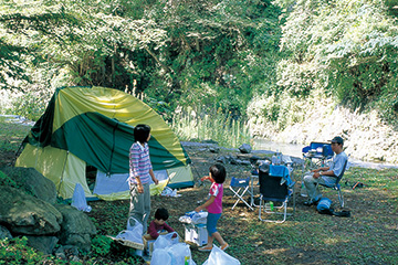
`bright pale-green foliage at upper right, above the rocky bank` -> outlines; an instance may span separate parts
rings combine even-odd
[[[363,108],[396,83],[397,32],[383,1],[297,1],[283,26],[279,84],[296,96],[324,88]]]

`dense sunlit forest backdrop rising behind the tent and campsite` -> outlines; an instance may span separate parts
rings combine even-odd
[[[397,0],[1,0],[1,113],[36,120],[56,87],[94,85],[169,123],[221,113],[281,141],[381,125],[366,139],[396,138],[397,18]],[[323,132],[336,115],[363,128]]]

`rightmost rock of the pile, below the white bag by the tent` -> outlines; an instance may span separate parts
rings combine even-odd
[[[96,229],[88,215],[70,205],[56,204],[55,206],[63,215],[59,234],[60,244],[75,245],[88,252],[91,237],[96,234]]]

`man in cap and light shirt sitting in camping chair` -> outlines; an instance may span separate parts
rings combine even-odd
[[[322,194],[318,190],[317,183],[336,183],[337,176],[343,172],[346,161],[348,160],[347,155],[343,151],[343,145],[344,140],[342,137],[336,136],[333,138],[332,150],[336,153],[336,156],[333,158],[331,166],[314,169],[304,177],[304,186],[310,197],[310,200],[305,201],[304,205],[311,206],[321,200]]]

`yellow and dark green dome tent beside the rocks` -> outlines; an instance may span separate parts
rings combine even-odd
[[[154,172],[175,188],[193,187],[190,160],[177,136],[149,106],[105,87],[61,87],[23,140],[15,167],[35,168],[71,199],[80,183],[87,199],[128,199],[128,152],[137,124],[151,127],[148,142]],[[86,167],[97,169],[95,188]]]

